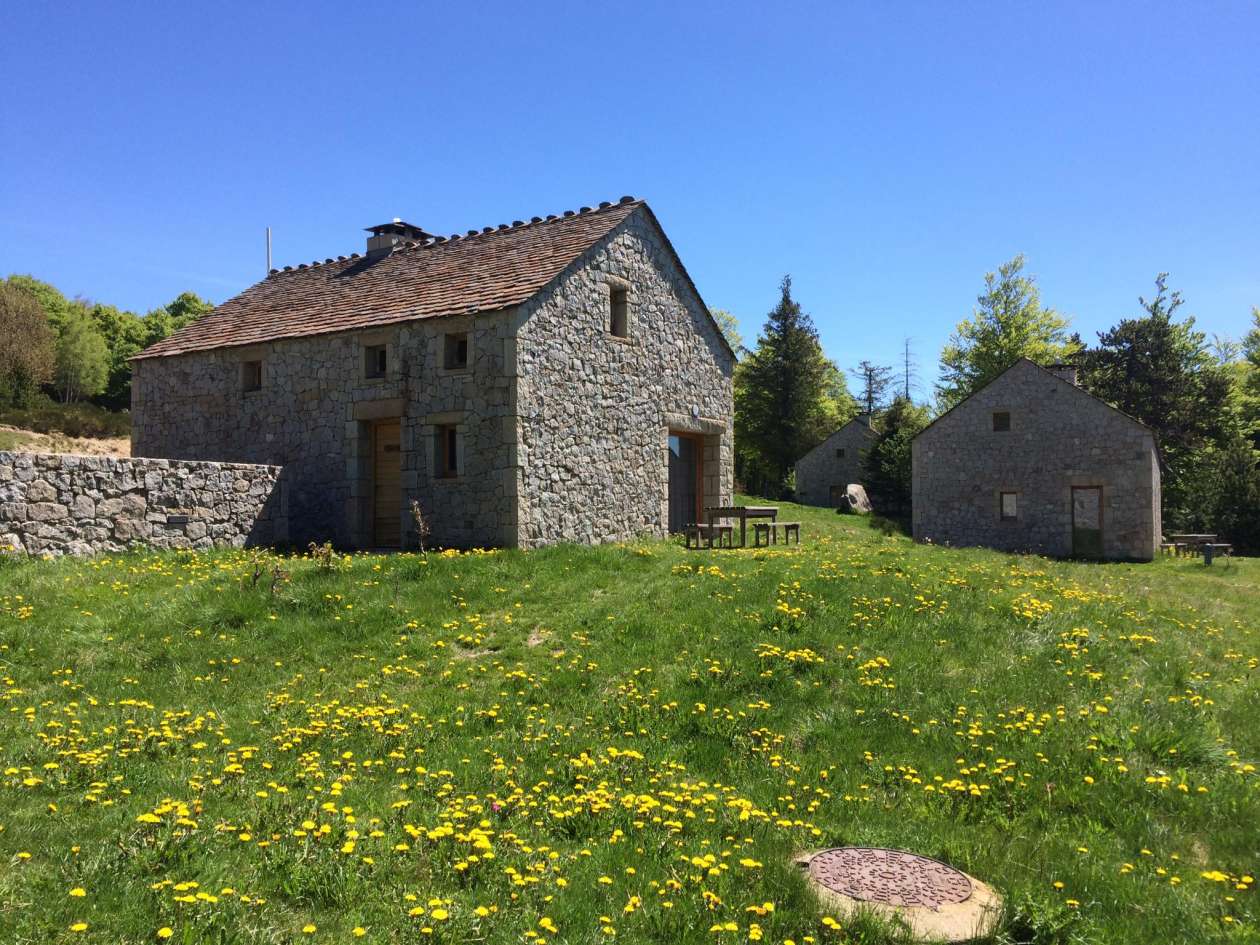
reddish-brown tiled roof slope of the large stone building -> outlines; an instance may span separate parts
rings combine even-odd
[[[272,270],[136,358],[519,305],[645,205],[624,197],[595,209],[410,243],[378,258],[355,253]]]

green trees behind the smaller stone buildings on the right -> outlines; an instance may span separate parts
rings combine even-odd
[[[740,488],[790,498],[795,461],[864,412],[876,436],[863,481],[876,509],[905,524],[911,513],[910,445],[919,431],[1019,358],[1042,365],[1068,362],[1085,391],[1154,431],[1166,532],[1211,530],[1240,549],[1260,551],[1260,307],[1252,309],[1244,338],[1210,341],[1193,318],[1182,318],[1184,299],[1160,273],[1154,292],[1139,296],[1131,315],[1087,344],[1070,331],[1065,315],[1042,304],[1024,267],[1023,256],[1016,256],[984,277],[971,315],[958,323],[941,350],[930,403],[911,399],[908,343],[902,377],[890,365],[863,360],[850,372],[857,396],[850,394],[785,277],[755,346],[737,348]],[[732,324],[719,320],[723,330]]]

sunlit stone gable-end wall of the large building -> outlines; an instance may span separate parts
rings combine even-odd
[[[522,546],[664,534],[672,430],[702,437],[704,504],[730,501],[733,358],[644,209],[517,324]]]

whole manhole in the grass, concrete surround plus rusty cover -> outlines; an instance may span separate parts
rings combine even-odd
[[[990,934],[1000,897],[948,863],[882,847],[833,847],[799,857],[824,905],[905,922],[920,939],[968,941]]]

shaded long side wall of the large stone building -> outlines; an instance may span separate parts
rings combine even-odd
[[[447,334],[467,333],[469,367],[446,369]],[[135,362],[132,454],[282,465],[292,539],[370,547],[372,425],[401,421],[404,543],[420,500],[430,542],[513,544],[512,350],[508,312],[450,316],[364,331]],[[364,348],[384,344],[370,378]],[[261,359],[262,389],[242,391],[241,364]],[[454,425],[460,474],[435,475],[438,425]]]

